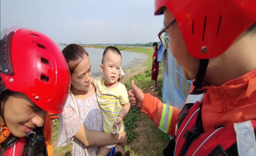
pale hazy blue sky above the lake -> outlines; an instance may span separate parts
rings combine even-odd
[[[32,28],[56,43],[158,42],[154,0],[1,0],[0,30]]]

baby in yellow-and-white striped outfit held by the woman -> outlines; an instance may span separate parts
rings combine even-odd
[[[102,77],[91,78],[103,116],[103,131],[115,134],[124,131],[123,118],[128,114],[130,103],[125,86],[117,82],[122,56],[114,46],[108,46],[102,56]],[[97,156],[108,156],[115,145],[100,147]],[[121,150],[122,151],[122,150]]]

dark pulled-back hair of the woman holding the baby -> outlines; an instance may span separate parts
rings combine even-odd
[[[70,44],[66,46],[62,53],[68,63],[70,75],[72,75],[79,65],[79,63],[83,60],[84,55],[88,55],[85,49],[78,44]]]

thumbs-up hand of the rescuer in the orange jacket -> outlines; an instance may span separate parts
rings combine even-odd
[[[129,102],[132,106],[141,108],[144,99],[144,93],[134,84],[134,80],[132,80],[131,85],[132,89],[128,91]]]

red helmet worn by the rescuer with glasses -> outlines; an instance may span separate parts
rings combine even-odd
[[[256,22],[256,0],[155,0],[154,14],[163,14],[165,7],[173,13],[188,52],[198,59],[219,56]],[[201,52],[204,46],[207,51]]]

